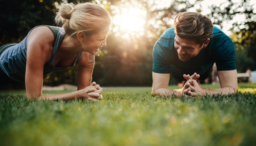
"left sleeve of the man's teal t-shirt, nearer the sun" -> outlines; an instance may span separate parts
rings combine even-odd
[[[171,60],[169,48],[165,46],[161,38],[155,43],[153,49],[153,72],[155,73],[170,73]]]

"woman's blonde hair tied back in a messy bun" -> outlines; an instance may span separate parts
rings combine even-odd
[[[66,3],[57,9],[59,11],[55,21],[57,24],[63,24],[65,34],[70,37],[79,31],[83,31],[89,36],[109,27],[112,23],[109,13],[94,3],[80,3],[74,8]]]

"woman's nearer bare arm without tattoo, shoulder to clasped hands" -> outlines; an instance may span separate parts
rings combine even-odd
[[[72,100],[79,98],[99,100],[102,90],[98,90],[97,88],[100,87],[95,83],[84,89],[70,93],[58,95],[42,94],[44,64],[51,58],[53,40],[54,36],[51,30],[46,26],[37,27],[29,34],[27,40],[27,64],[25,74],[28,99]]]

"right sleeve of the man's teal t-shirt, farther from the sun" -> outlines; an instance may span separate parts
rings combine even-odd
[[[216,42],[216,65],[218,71],[236,69],[236,53],[232,40],[222,33]]]

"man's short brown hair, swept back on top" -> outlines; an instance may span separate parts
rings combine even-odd
[[[174,28],[180,38],[193,39],[200,45],[213,37],[211,20],[200,13],[179,13],[174,19]]]

